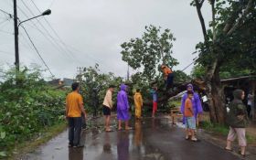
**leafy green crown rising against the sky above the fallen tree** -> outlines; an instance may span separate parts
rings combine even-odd
[[[171,56],[175,40],[169,29],[162,32],[161,27],[145,27],[141,38],[132,38],[121,45],[123,61],[128,62],[133,69],[143,70],[142,74],[147,81],[155,80],[160,74],[161,64],[165,63],[169,67],[178,64]]]

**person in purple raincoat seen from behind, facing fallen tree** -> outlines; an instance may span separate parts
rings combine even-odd
[[[127,86],[121,84],[120,91],[117,94],[117,120],[118,120],[118,130],[122,130],[122,122],[125,122],[125,130],[130,130],[129,127],[129,102],[126,93]]]

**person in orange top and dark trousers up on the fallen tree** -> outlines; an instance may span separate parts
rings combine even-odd
[[[166,65],[162,65],[161,69],[164,73],[164,79],[165,79],[165,91],[173,87],[174,83],[174,73],[173,70],[168,68]]]

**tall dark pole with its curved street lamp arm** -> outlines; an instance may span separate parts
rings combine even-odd
[[[17,14],[16,14],[16,0],[14,0],[14,21],[15,21],[15,50],[16,50],[16,62],[15,62],[15,65],[16,65],[16,70],[18,71],[19,70],[19,51],[18,51],[18,27],[22,24],[22,23],[24,23],[24,22],[27,22],[27,21],[29,21],[29,20],[31,20],[31,19],[35,19],[35,18],[37,18],[37,17],[39,17],[39,16],[48,16],[48,15],[50,15],[51,14],[51,10],[50,9],[48,9],[48,10],[46,10],[46,11],[44,11],[41,15],[39,15],[39,16],[34,16],[34,17],[31,17],[31,18],[29,18],[29,19],[27,19],[27,20],[24,20],[24,21],[21,21],[21,22],[19,22],[19,24],[17,25],[17,20],[18,20],[18,18],[17,18]]]

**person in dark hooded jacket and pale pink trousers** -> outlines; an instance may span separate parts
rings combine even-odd
[[[236,90],[233,92],[234,100],[229,104],[227,123],[229,124],[229,135],[227,138],[226,150],[231,151],[231,144],[238,136],[240,145],[240,155],[245,155],[246,137],[245,128],[248,125],[248,114],[246,106],[242,100],[245,97],[244,91]]]

